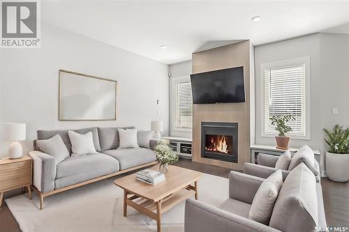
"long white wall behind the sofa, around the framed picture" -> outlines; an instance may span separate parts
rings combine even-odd
[[[41,30],[40,49],[2,51],[2,122],[27,123],[24,153],[32,149],[38,129],[135,125],[150,130],[150,121],[161,118],[168,134],[168,65],[49,24]],[[58,121],[59,69],[117,80],[117,121]]]

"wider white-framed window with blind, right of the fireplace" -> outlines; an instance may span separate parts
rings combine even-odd
[[[261,65],[262,136],[277,133],[270,116],[288,114],[295,118],[288,123],[292,127],[290,137],[310,139],[309,65],[309,57]]]

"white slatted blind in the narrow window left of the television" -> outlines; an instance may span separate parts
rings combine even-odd
[[[192,128],[193,121],[193,98],[191,95],[191,82],[177,83],[177,94],[175,99],[175,119],[176,128]]]

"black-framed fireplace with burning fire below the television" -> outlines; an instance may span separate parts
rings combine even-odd
[[[237,163],[237,123],[201,123],[201,157]]]

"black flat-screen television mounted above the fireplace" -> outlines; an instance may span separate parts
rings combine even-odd
[[[245,102],[244,67],[191,75],[193,104]]]

